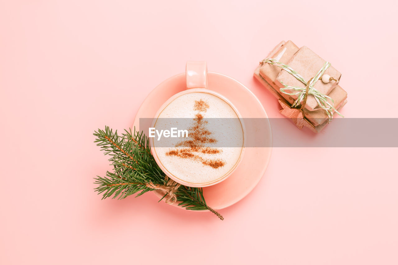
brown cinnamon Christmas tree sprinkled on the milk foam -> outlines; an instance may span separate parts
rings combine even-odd
[[[203,115],[200,112],[205,112],[209,108],[209,104],[202,99],[197,101],[195,100],[195,104],[193,109],[198,111],[193,119],[194,123],[192,127],[188,128],[188,137],[191,140],[184,140],[178,142],[176,147],[185,147],[179,150],[171,150],[166,153],[168,156],[178,156],[180,158],[186,158],[201,162],[206,166],[211,166],[212,168],[219,168],[225,165],[225,162],[219,159],[205,159],[197,154],[193,154],[194,152],[200,152],[203,154],[218,154],[221,150],[217,148],[205,147],[205,143],[216,143],[217,140],[215,138],[211,138],[211,132],[207,130],[206,123],[207,121],[203,121]]]

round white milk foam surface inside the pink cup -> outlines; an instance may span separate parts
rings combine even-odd
[[[195,102],[198,101],[205,103],[205,111],[203,109],[201,111],[198,109],[195,110]],[[155,152],[163,166],[174,175],[174,177],[195,184],[216,181],[235,168],[242,152],[244,133],[238,115],[235,113],[234,109],[223,99],[203,92],[193,92],[177,97],[166,106],[158,118],[190,118],[183,119],[183,121],[186,121],[186,123],[192,126],[195,124],[195,117],[197,117],[198,114],[203,117],[204,121],[209,118],[231,118],[209,120],[217,122],[217,126],[214,126],[214,122],[204,123],[203,125],[206,127],[205,129],[211,133],[209,137],[217,141],[217,147],[214,147],[215,145],[213,143],[206,142],[203,148],[211,148],[212,150],[216,150],[216,153],[203,153],[203,148],[192,150],[186,146],[175,147],[178,142],[193,139],[189,137],[162,137],[160,141],[158,141],[157,138],[153,138]],[[187,129],[186,127],[181,128],[181,126],[184,126],[181,125],[180,121],[181,120],[177,119],[158,119],[155,127],[156,129],[167,128],[169,130],[171,127]],[[209,126],[211,124],[213,125]],[[168,141],[167,144],[165,144],[164,141]],[[156,145],[158,145],[158,147],[156,147]],[[189,149],[190,155],[188,157],[170,155],[171,151],[174,152],[174,154],[178,152],[180,152],[178,154],[184,154],[181,153],[184,151],[184,148],[185,150]],[[222,166],[220,166],[220,164],[215,166],[215,164],[211,163],[215,161],[221,161]]]

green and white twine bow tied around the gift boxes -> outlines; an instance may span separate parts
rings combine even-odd
[[[300,82],[302,82],[304,85],[307,85],[308,82],[306,82],[304,80],[304,78],[298,74],[298,72],[296,72],[295,70],[293,70],[289,65],[287,64],[283,64],[282,62],[278,62],[277,60],[273,59],[273,58],[265,58],[264,60],[262,60],[260,63],[269,63],[269,64],[273,64],[275,66],[278,66],[280,68],[282,68],[283,70],[285,70],[286,72],[288,72],[289,74],[293,75],[297,80],[299,80]],[[328,95],[324,95],[322,93],[320,93],[318,90],[316,90],[314,88],[314,85],[316,83],[316,81],[319,80],[319,78],[322,77],[322,75],[324,74],[324,72],[326,71],[326,69],[328,69],[331,66],[330,62],[325,62],[324,65],[322,66],[322,68],[318,71],[318,73],[316,74],[316,76],[314,76],[310,82],[309,82],[309,86],[308,86],[308,94],[307,95],[313,95],[315,97],[316,102],[318,103],[318,105],[324,109],[326,111],[326,114],[328,115],[328,119],[329,122],[332,121],[333,119],[333,111],[335,111],[338,115],[340,115],[341,117],[344,117],[343,115],[341,115],[334,107],[334,101],[331,97],[329,97]],[[304,99],[305,94],[306,94],[306,88],[301,88],[299,86],[287,86],[285,84],[283,84],[283,82],[281,82],[281,84],[284,86],[284,88],[279,89],[283,94],[286,95],[297,95],[297,99],[296,101],[293,103],[292,107],[297,107],[298,105],[300,105],[300,102]],[[292,91],[294,90],[295,92],[293,93],[289,93],[288,90]],[[329,103],[328,99],[330,99],[330,101],[332,101],[332,104]]]

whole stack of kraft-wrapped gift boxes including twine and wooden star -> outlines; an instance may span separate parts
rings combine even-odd
[[[282,41],[254,71],[254,76],[279,99],[283,115],[298,128],[319,133],[347,103],[339,86],[341,73],[308,47]]]

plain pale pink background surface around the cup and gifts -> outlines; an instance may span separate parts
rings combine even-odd
[[[0,263],[397,264],[394,148],[274,148],[254,191],[220,211],[224,221],[152,193],[101,201],[92,183],[110,169],[94,129],[131,126],[186,60],[207,60],[280,117],[252,75],[283,39],[343,73],[346,117],[397,117],[397,7],[0,1]]]

